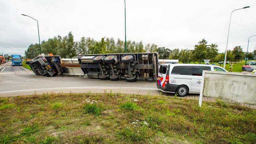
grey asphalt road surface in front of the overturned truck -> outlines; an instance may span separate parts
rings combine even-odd
[[[0,92],[18,90],[37,90],[47,88],[71,87],[121,87],[121,88],[149,88],[156,89],[155,81],[139,80],[138,82],[99,80],[92,78],[78,78],[69,76],[36,76],[32,71],[21,66],[12,66],[11,62],[0,65]]]

